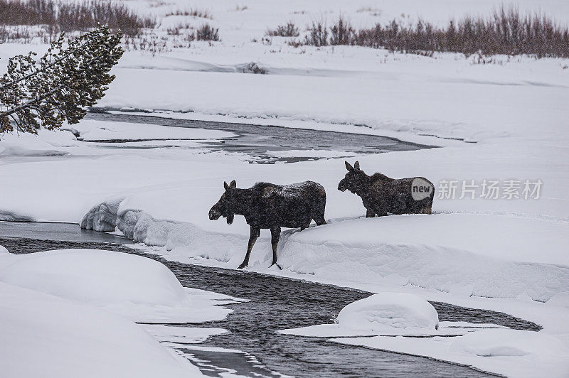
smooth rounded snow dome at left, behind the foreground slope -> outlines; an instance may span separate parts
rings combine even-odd
[[[0,281],[95,306],[127,301],[174,306],[185,296],[163,264],[98,249],[18,255],[2,269]]]

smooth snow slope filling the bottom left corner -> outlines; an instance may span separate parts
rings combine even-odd
[[[0,339],[5,378],[202,375],[122,316],[3,282]]]

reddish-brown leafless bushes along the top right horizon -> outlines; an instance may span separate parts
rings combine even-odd
[[[296,43],[297,45],[299,43]],[[535,55],[537,58],[569,58],[569,28],[541,13],[522,16],[513,7],[494,11],[490,17],[465,16],[436,27],[422,20],[414,25],[391,21],[357,30],[344,17],[331,27],[313,22],[305,45],[359,45],[402,53],[434,52],[464,55]]]

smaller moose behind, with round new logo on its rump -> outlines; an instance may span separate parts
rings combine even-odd
[[[338,184],[338,190],[346,189],[361,197],[366,207],[366,217],[392,214],[430,214],[435,186],[422,177],[390,178],[381,173],[366,175],[359,161],[350,165],[348,173]]]

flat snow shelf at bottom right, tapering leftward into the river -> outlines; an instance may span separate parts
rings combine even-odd
[[[567,377],[567,345],[543,332],[477,330],[457,337],[336,338],[330,341],[420,355],[506,377]]]

